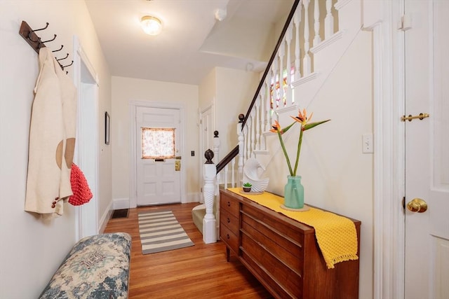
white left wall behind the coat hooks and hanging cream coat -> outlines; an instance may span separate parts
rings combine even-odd
[[[79,36],[99,75],[100,111],[110,106],[109,71],[84,1],[0,1],[0,298],[8,299],[37,298],[75,242],[75,207],[65,204],[64,215],[53,221],[24,211],[29,123],[39,65],[36,52],[18,34],[22,20],[35,29],[49,22],[39,36],[51,39],[57,34],[47,46],[58,49],[63,44],[61,56],[69,53],[69,62],[73,35]],[[72,76],[70,67],[67,70]],[[111,200],[108,151],[105,148],[100,155],[100,215]]]

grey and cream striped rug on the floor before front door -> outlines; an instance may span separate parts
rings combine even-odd
[[[145,211],[138,217],[143,254],[194,245],[172,211]]]

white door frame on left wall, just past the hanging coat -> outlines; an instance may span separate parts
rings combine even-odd
[[[100,232],[98,222],[99,197],[99,151],[98,132],[98,74],[84,53],[77,36],[73,38],[74,66],[73,80],[77,92],[76,146],[74,162],[83,169],[89,181],[92,199],[88,204],[75,208],[76,241],[82,237]],[[85,97],[82,97],[82,96]],[[96,127],[97,130],[91,130]],[[89,134],[83,134],[89,132]]]

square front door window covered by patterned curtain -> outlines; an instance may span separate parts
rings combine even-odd
[[[142,127],[142,159],[175,158],[175,129]]]

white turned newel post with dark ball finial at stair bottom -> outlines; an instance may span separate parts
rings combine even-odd
[[[213,202],[215,197],[215,176],[217,167],[213,164],[213,151],[208,149],[204,153],[206,163],[203,165],[203,195],[206,205],[206,215],[203,218],[203,241],[206,244],[217,242],[217,221],[213,214]]]

